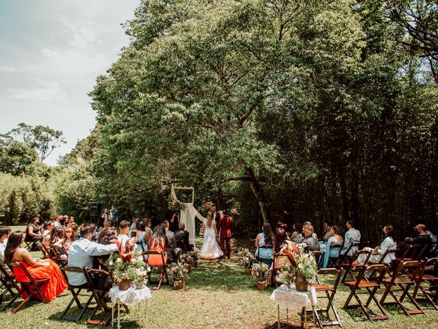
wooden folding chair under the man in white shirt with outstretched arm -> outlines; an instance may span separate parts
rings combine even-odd
[[[93,308],[89,307],[94,295],[92,293],[92,289],[90,288],[90,285],[88,284],[88,282],[81,284],[79,286],[75,286],[73,284],[70,284],[70,282],[68,282],[68,276],[67,276],[67,272],[73,272],[73,273],[82,273],[85,276],[85,273],[83,271],[83,269],[79,268],[79,267],[61,267],[61,273],[62,276],[64,276],[64,279],[67,282],[67,289],[68,291],[70,291],[70,293],[72,294],[72,298],[70,300],[70,302],[67,304],[66,309],[64,310],[64,312],[62,312],[60,319],[62,320],[68,320],[68,321],[80,321],[83,317],[83,315],[86,313],[86,310],[92,310]],[[88,294],[81,294],[82,289],[84,290],[88,290],[90,293]],[[81,301],[79,300],[79,296],[86,296],[88,297],[88,300],[85,304],[82,304]],[[77,308],[79,308],[79,317],[72,317],[70,315],[66,315],[68,310],[70,309],[70,307],[73,305],[73,302],[76,302],[77,304]]]

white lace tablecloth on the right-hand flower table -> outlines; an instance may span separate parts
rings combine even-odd
[[[315,306],[317,303],[315,288],[309,287],[308,291],[301,292],[295,289],[294,284],[290,285],[289,291],[282,284],[272,291],[271,300],[281,308],[289,308],[291,310],[300,310],[308,305]]]

